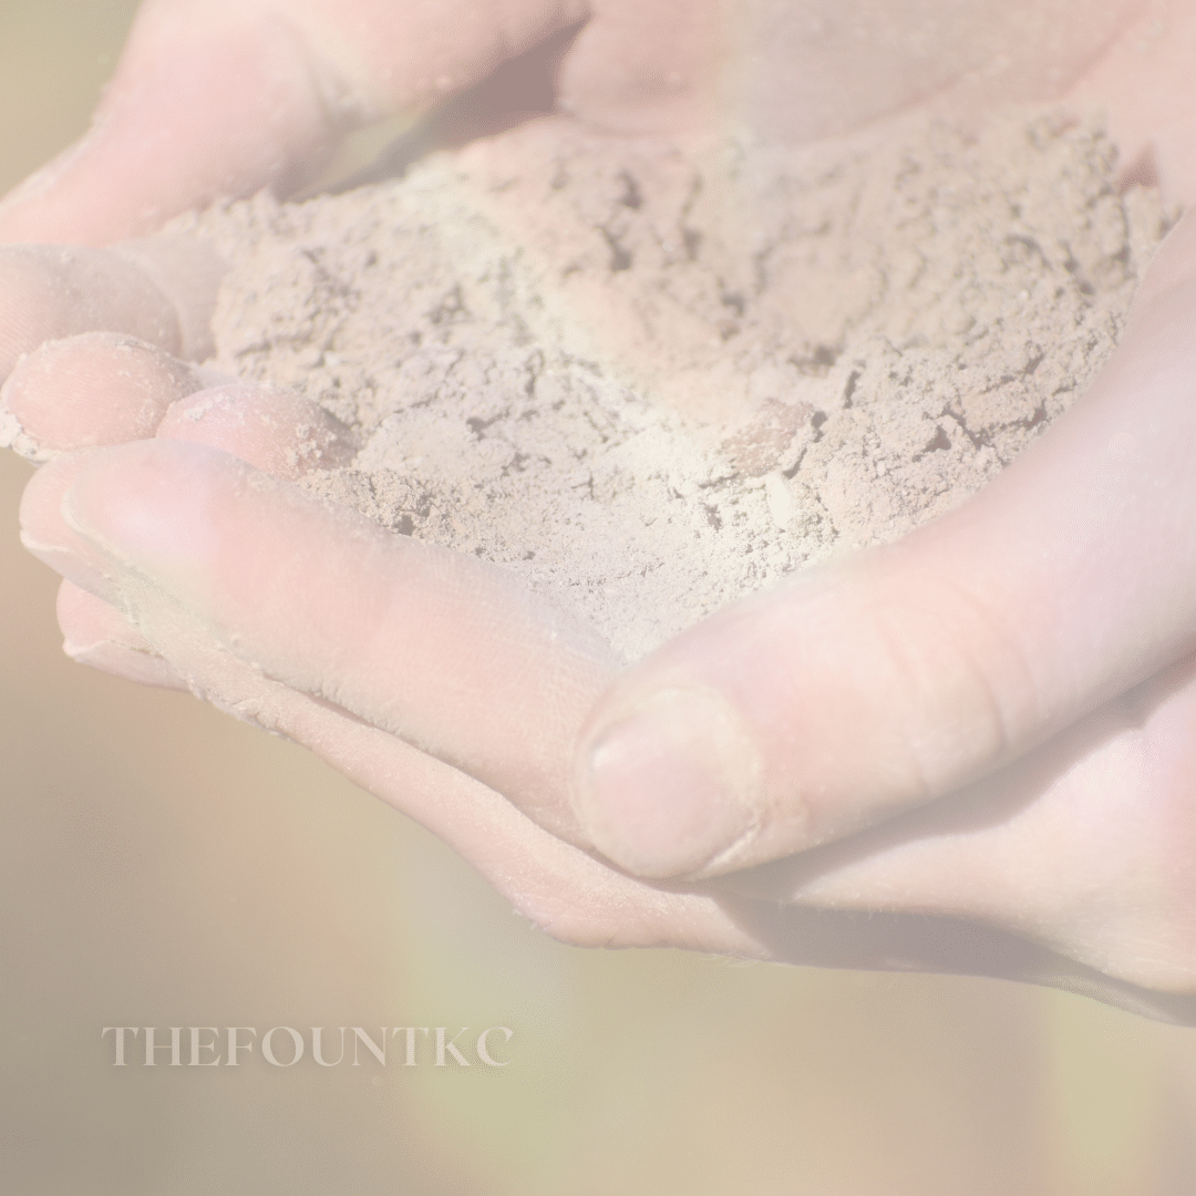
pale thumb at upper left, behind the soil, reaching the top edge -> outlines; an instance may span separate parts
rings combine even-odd
[[[90,134],[0,240],[109,244],[220,196],[287,195],[349,127],[417,112],[584,16],[576,0],[150,0]]]

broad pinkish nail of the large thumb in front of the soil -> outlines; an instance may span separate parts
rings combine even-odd
[[[691,875],[758,822],[759,753],[713,690],[665,690],[600,731],[575,805],[594,846],[628,871]]]

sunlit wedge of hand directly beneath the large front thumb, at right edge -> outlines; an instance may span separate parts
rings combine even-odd
[[[719,879],[755,898],[1013,930],[1196,994],[1196,658],[948,801]]]

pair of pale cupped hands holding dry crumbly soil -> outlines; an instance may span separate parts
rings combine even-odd
[[[295,486],[346,431],[194,365],[224,267],[155,233],[295,191],[388,114],[481,86],[501,123],[530,72],[612,135],[1102,109],[1127,183],[1196,199],[1192,2],[151,0],[91,133],[0,206],[5,417],[47,462],[23,536],[67,651],[305,744],[573,942],[1196,1017],[1196,222],[982,493],[624,667]]]

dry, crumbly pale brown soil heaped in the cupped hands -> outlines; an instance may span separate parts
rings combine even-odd
[[[1167,220],[1099,126],[683,147],[525,126],[185,222],[214,365],[359,431],[312,475],[637,657],[956,506],[1082,392]]]

